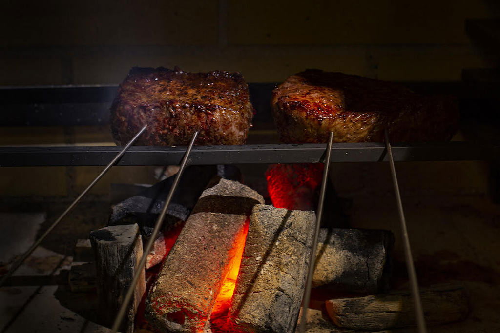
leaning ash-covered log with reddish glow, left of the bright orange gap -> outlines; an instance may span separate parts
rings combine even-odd
[[[148,296],[146,316],[159,330],[196,332],[207,324],[235,257],[235,241],[263,198],[233,181],[201,194]]]

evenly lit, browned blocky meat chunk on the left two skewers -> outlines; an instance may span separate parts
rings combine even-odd
[[[136,145],[240,145],[253,117],[248,86],[239,73],[189,73],[132,68],[111,106],[114,140],[125,144],[144,125]]]

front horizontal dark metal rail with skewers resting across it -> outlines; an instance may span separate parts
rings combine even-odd
[[[477,142],[394,144],[394,161],[493,160],[500,145]],[[0,167],[14,166],[99,166],[106,165],[121,147],[0,147]],[[133,146],[117,165],[178,165],[185,147]],[[195,146],[191,165],[315,163],[324,144],[266,144],[242,146]],[[332,162],[387,161],[383,143],[335,143]]]

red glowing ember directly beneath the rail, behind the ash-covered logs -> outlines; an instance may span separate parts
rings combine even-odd
[[[272,205],[290,210],[314,210],[323,168],[322,163],[269,165],[265,178]]]

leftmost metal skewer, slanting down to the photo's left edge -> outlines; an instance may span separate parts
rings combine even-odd
[[[102,176],[104,176],[106,172],[116,163],[116,161],[120,159],[120,157],[127,151],[127,149],[142,134],[142,132],[144,132],[146,127],[147,126],[142,127],[137,132],[137,134],[135,134],[135,136],[126,144],[126,146],[123,147],[123,149],[121,149],[121,151],[116,156],[114,156],[114,158],[106,165],[104,169],[102,169],[102,171],[87,186],[87,188],[84,189],[83,192],[81,192],[80,195],[78,195],[78,197],[76,197],[76,199],[74,199],[74,201],[69,205],[69,207],[66,208],[66,210],[57,218],[57,220],[55,220],[55,222],[52,223],[50,227],[48,227],[48,229],[43,233],[43,235],[41,235],[40,238],[38,238],[33,243],[33,245],[31,245],[31,247],[22,255],[22,257],[20,257],[14,264],[12,264],[8,272],[1,278],[0,286],[3,286],[3,284],[7,281],[7,279],[10,278],[10,276],[12,276],[12,274],[19,268],[19,266],[21,266],[24,260],[26,260],[26,258],[29,257],[29,255],[38,247],[38,245],[40,245],[40,243],[45,239],[45,237],[47,237],[47,235],[52,231],[52,229],[54,229],[59,224],[59,222],[62,221],[62,219],[74,208],[74,206],[76,206],[76,204],[80,201],[80,199],[83,198],[83,196],[99,181],[99,179],[101,179]]]

